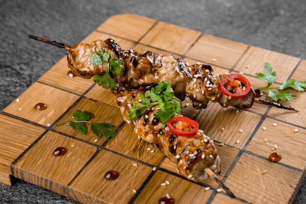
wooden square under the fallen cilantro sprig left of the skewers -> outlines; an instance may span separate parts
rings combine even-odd
[[[75,110],[81,110],[81,111],[87,111],[90,113],[94,113],[94,117],[90,120],[91,122],[94,122],[94,123],[108,122],[108,123],[113,124],[116,127],[118,127],[121,123],[123,123],[121,113],[118,109],[114,109],[110,106],[103,105],[101,103],[97,103],[97,102],[94,102],[94,101],[91,101],[85,98],[82,98],[81,101],[76,106],[74,106],[71,110],[69,110],[69,112],[66,113],[58,123],[72,121],[72,118],[71,118],[72,112]],[[73,130],[70,126],[67,126],[67,125],[55,126],[54,130],[60,131],[62,133],[66,133],[71,136],[75,136],[77,138],[86,140],[88,142],[91,142],[97,145],[102,145],[103,142],[106,141],[106,137],[102,136],[98,138],[96,135],[94,135],[91,132],[89,125],[88,124],[86,125],[88,128],[88,132],[86,135],[78,133],[77,131]],[[96,139],[98,140],[96,141]]]

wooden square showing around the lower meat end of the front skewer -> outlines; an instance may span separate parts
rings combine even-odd
[[[215,143],[215,144],[217,146],[218,154],[219,154],[220,162],[221,162],[221,173],[219,174],[219,178],[223,179],[227,170],[232,165],[234,159],[237,157],[239,150],[231,148],[231,147],[227,147],[227,146],[220,146],[218,143]],[[163,163],[160,165],[160,167],[167,169],[169,171],[172,171],[176,174],[179,174],[176,170],[175,163],[171,162],[169,159],[165,159]],[[219,185],[215,180],[211,178],[205,181],[202,181],[202,183],[208,186],[214,187],[214,188],[218,187]]]

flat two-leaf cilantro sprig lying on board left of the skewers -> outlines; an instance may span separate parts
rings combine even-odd
[[[73,121],[68,121],[65,123],[58,123],[55,126],[69,125],[71,128],[76,130],[78,133],[87,134],[87,126],[85,124],[89,123],[90,130],[92,131],[93,134],[95,134],[98,137],[105,136],[106,138],[109,138],[109,137],[114,137],[117,134],[114,125],[111,125],[106,122],[103,122],[103,123],[89,122],[88,120],[94,117],[94,115],[90,112],[87,112],[87,111],[82,112],[80,110],[76,110],[72,112],[71,117]]]

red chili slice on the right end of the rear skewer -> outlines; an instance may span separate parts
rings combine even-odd
[[[237,87],[236,81],[242,82],[244,84],[245,90],[242,90],[240,87]],[[226,90],[224,87],[226,84],[235,89],[234,93],[231,93]],[[240,74],[229,74],[225,76],[219,83],[219,90],[226,96],[231,96],[233,98],[242,98],[251,90],[250,81]]]

